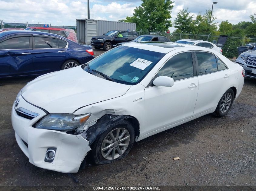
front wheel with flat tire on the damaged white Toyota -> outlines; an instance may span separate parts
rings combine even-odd
[[[134,135],[134,128],[125,120],[98,135],[91,147],[95,164],[108,164],[124,158],[132,148]]]

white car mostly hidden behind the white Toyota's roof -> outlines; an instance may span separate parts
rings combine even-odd
[[[177,40],[175,43],[182,43],[182,44],[189,44],[189,45],[195,45],[195,46],[202,46],[205,48],[210,48],[218,53],[222,54],[222,49],[216,46],[214,43],[208,42],[208,41],[203,41],[203,40],[191,40],[191,39],[182,39],[182,40]]]

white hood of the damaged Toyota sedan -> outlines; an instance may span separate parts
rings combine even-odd
[[[73,113],[80,107],[122,96],[130,87],[92,75],[78,66],[39,76],[21,94],[49,113]]]

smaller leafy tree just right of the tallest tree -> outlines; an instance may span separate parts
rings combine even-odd
[[[174,20],[174,27],[183,31],[184,33],[191,33],[194,31],[194,24],[193,24],[194,15],[190,15],[188,12],[188,8],[182,9],[178,12],[177,17]]]

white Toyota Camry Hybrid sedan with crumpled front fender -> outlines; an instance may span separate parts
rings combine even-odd
[[[96,164],[108,164],[134,141],[226,115],[243,84],[244,69],[212,49],[127,43],[29,82],[13,104],[12,126],[30,163],[75,173],[90,150]]]

